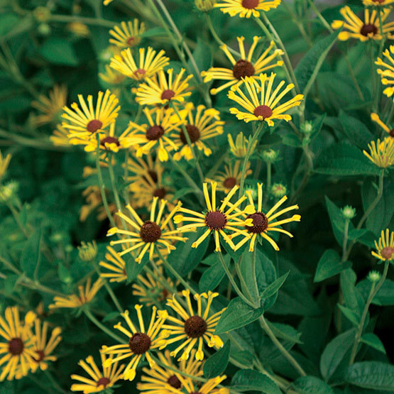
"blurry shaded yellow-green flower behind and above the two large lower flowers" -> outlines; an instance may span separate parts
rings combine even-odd
[[[159,273],[160,280],[154,278],[150,273],[146,273],[145,276],[138,275],[137,283],[133,283],[133,295],[137,295],[138,301],[147,307],[167,300],[170,296],[168,289],[174,288],[173,281],[170,278],[165,278],[162,267],[158,267],[157,274]]]

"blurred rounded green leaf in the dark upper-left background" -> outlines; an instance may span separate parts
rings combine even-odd
[[[40,54],[45,60],[55,65],[75,66],[78,64],[72,43],[64,37],[48,38],[41,46]]]

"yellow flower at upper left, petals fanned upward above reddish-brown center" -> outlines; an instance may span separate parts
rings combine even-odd
[[[103,131],[114,123],[121,109],[118,105],[119,100],[108,89],[105,94],[99,92],[96,110],[94,110],[92,95],[89,94],[87,97],[88,106],[82,94],[78,94],[78,99],[82,111],[77,103],[72,103],[71,109],[67,106],[63,107],[65,113],[62,114],[62,118],[65,119],[62,127],[70,131],[70,136],[78,138],[92,138],[94,133]]]

